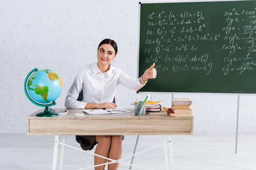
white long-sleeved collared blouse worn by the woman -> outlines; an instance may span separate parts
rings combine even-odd
[[[133,90],[139,90],[145,84],[140,79],[132,79],[120,68],[109,65],[110,69],[102,73],[97,62],[85,65],[77,73],[73,84],[67,92],[66,108],[84,109],[87,103],[113,102],[117,85],[123,85]],[[76,99],[83,89],[82,102]]]

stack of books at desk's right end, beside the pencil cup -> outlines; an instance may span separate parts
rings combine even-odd
[[[173,98],[172,108],[168,109],[168,113],[171,117],[192,116],[190,105],[192,101],[189,98]]]

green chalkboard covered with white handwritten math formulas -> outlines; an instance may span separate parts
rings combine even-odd
[[[140,92],[256,94],[256,1],[141,3]]]

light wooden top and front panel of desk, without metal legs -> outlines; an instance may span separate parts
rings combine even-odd
[[[63,110],[63,109],[56,109]],[[28,135],[189,135],[194,117],[170,117],[168,114],[134,116],[131,113],[76,116],[81,109],[65,109],[55,117],[38,117],[40,109],[27,119]]]

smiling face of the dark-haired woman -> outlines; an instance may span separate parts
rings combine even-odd
[[[108,65],[116,57],[117,54],[115,53],[116,51],[110,44],[102,44],[97,51],[98,62],[102,65]]]

